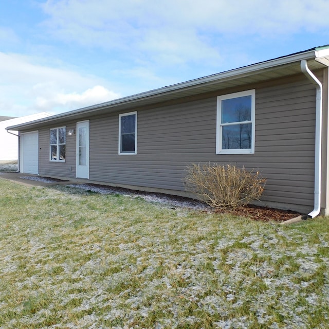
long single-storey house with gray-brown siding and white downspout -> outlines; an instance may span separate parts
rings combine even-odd
[[[262,205],[329,213],[329,46],[7,126],[20,170],[187,195],[191,163],[267,179]]]

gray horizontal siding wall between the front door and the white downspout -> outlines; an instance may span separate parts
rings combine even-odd
[[[137,116],[137,155],[118,155],[118,114],[90,120],[90,179],[184,190],[190,163],[235,163],[262,172],[264,201],[313,205],[315,88],[307,80],[256,90],[252,155],[215,154],[216,97]]]

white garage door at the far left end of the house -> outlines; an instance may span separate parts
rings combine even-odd
[[[20,171],[27,174],[39,173],[39,132],[21,134]]]

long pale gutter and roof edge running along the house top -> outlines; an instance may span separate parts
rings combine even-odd
[[[162,87],[159,89],[150,90],[148,92],[127,96],[119,99],[115,99],[112,101],[83,107],[80,109],[75,109],[74,111],[69,111],[57,115],[53,115],[47,118],[38,119],[26,123],[21,123],[13,126],[6,127],[7,130],[22,130],[22,129],[30,129],[32,127],[38,127],[43,124],[50,124],[52,122],[56,122],[63,119],[70,119],[70,118],[79,118],[83,117],[86,114],[92,114],[94,112],[100,111],[101,109],[110,109],[116,108],[119,105],[129,105],[134,104],[138,106],[138,103],[141,101],[148,100],[148,104],[157,103],[157,99],[160,96],[168,97],[168,100],[179,98],[179,93],[184,92],[189,89],[195,89],[195,94],[198,94],[197,88],[201,86],[207,86],[214,83],[225,82],[228,80],[235,80],[251,75],[257,75],[260,73],[264,73],[266,71],[274,70],[280,66],[285,66],[288,64],[293,63],[300,63],[301,60],[316,60],[320,57],[319,53],[322,51],[324,52],[325,56],[328,56],[329,47],[325,47],[323,50],[319,50],[319,48],[309,49],[303,52],[294,53],[285,57],[279,57],[276,59],[268,60],[265,62],[260,62],[248,66],[243,66],[240,68],[235,68],[232,70],[224,71],[218,74],[206,76],[203,78],[198,78],[194,80],[189,80],[186,82],[181,82],[177,84],[173,84],[170,86]],[[321,58],[324,58],[322,56]],[[283,75],[284,76],[284,75]],[[176,97],[174,97],[176,95]]]

